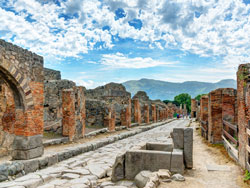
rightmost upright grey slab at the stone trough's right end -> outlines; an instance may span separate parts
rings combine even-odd
[[[193,168],[193,129],[184,129],[184,163],[186,168]]]

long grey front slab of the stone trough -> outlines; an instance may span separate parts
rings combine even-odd
[[[171,152],[131,150],[125,155],[125,177],[133,180],[143,170],[170,169]]]

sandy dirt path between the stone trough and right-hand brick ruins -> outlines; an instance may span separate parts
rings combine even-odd
[[[198,126],[192,123],[191,126]],[[194,131],[194,168],[185,171],[186,181],[161,183],[159,188],[249,188],[244,183],[244,172],[227,155],[223,145],[208,144],[201,136],[200,129]],[[229,166],[230,171],[207,171],[206,165]]]

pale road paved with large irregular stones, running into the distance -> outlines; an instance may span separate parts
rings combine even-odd
[[[189,120],[177,120],[135,136],[117,141],[95,151],[62,161],[56,165],[15,180],[12,188],[89,188],[134,187],[131,182],[110,182],[116,155],[141,142],[169,142],[174,127],[186,126]],[[25,185],[25,186],[23,186]],[[1,188],[1,184],[0,184]]]

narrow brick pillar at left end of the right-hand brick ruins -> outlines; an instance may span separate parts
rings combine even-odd
[[[200,102],[200,122],[201,122],[201,135],[208,139],[208,96],[204,95],[201,97]]]

